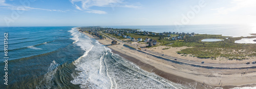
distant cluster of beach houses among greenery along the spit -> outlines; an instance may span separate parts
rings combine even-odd
[[[79,31],[87,32],[89,34],[93,34],[98,36],[100,39],[104,39],[102,33],[108,34],[111,36],[115,36],[115,38],[123,39],[124,41],[132,41],[132,42],[148,42],[147,47],[156,46],[158,39],[165,39],[165,40],[184,40],[186,36],[194,36],[196,35],[193,33],[179,33],[179,32],[163,32],[163,33],[156,33],[156,32],[148,32],[148,31],[140,31],[138,29],[114,29],[114,28],[85,28],[79,27]],[[137,36],[131,36],[131,34],[137,34]],[[142,37],[138,37],[138,35]],[[145,37],[146,36],[146,37]],[[150,38],[153,37],[153,38]]]

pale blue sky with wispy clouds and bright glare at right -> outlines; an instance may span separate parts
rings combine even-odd
[[[255,24],[254,0],[0,0],[0,26]]]

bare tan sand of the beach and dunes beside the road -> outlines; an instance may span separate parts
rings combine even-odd
[[[141,69],[155,73],[163,78],[166,78],[175,83],[185,84],[191,88],[232,88],[242,86],[255,86],[256,84],[256,69],[207,69],[201,67],[195,67],[188,64],[174,63],[167,61],[162,58],[148,55],[146,53],[139,52],[135,49],[131,49],[124,46],[122,42],[120,44],[111,45],[112,39],[99,39],[98,37],[92,36],[88,33],[82,32],[91,38],[95,38],[103,45],[112,49],[113,53],[119,54],[123,58],[132,61],[138,65]],[[170,48],[168,50],[160,50],[165,47],[156,47],[151,50],[155,52],[162,52],[164,55],[172,55],[181,58],[189,58],[191,60],[202,61],[202,59],[195,57],[184,57],[177,54],[176,51],[182,48]],[[217,61],[219,62],[219,61]],[[234,61],[236,62],[236,61]]]

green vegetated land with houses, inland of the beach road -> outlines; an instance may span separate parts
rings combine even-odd
[[[222,35],[196,34],[185,32],[149,32],[139,29],[114,29],[102,27],[79,27],[79,31],[86,32],[105,39],[113,37],[112,44],[118,44],[116,40],[129,43],[136,49],[163,47],[167,50],[170,47],[193,47],[177,51],[176,54],[181,56],[193,56],[206,59],[227,60],[245,60],[253,59],[256,56],[254,52],[255,44],[234,43],[242,38],[256,38],[256,36],[248,37],[229,37]],[[207,38],[220,39],[221,41],[205,42],[201,41]],[[217,49],[218,48],[218,49]],[[244,49],[245,51],[239,50]],[[160,51],[161,52],[161,51]],[[213,53],[214,52],[214,53]],[[239,53],[239,54],[238,54]]]

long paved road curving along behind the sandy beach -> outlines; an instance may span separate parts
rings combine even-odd
[[[102,34],[105,35],[106,37],[112,39],[112,40],[114,39],[114,40],[122,42],[126,45],[129,45],[133,48],[137,48],[136,46],[134,46],[132,44],[129,44],[129,43],[126,43],[126,42],[123,42],[122,40],[116,39],[116,38],[111,37],[109,35],[106,35],[104,33],[102,33]],[[256,66],[256,63],[255,64],[252,64],[252,63],[250,63],[250,64],[245,64],[245,63],[244,64],[218,64],[218,63],[206,63],[206,62],[201,63],[201,62],[196,62],[196,61],[190,61],[190,60],[187,60],[187,59],[179,59],[179,58],[176,58],[176,57],[166,56],[166,55],[162,55],[162,54],[152,52],[152,51],[148,51],[148,50],[138,50],[138,51],[142,51],[144,53],[148,53],[148,54],[153,55],[153,56],[162,57],[162,58],[165,58],[169,61],[177,61],[177,62],[186,63],[186,64],[190,64],[190,65],[211,66],[211,67],[214,67],[214,68],[249,68],[249,67],[252,67],[252,66]],[[175,60],[175,59],[177,59],[177,60]]]

